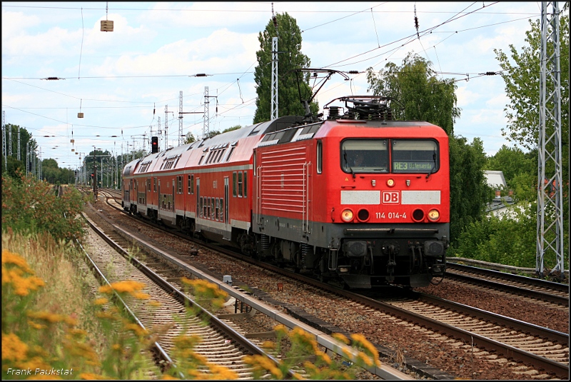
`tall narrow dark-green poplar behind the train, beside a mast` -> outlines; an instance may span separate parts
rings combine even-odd
[[[307,100],[312,96],[309,86],[309,74],[300,75],[298,80],[293,69],[307,68],[310,59],[301,53],[301,31],[293,17],[284,14],[276,14],[278,33],[273,21],[270,20],[266,29],[258,34],[260,50],[256,52],[258,66],[254,71],[254,81],[256,81],[256,114],[253,123],[269,121],[271,116],[271,80],[272,80],[272,39],[278,36],[278,116],[305,115],[305,109],[301,103],[301,98]],[[310,104],[310,110],[316,114],[319,109],[317,103]]]

